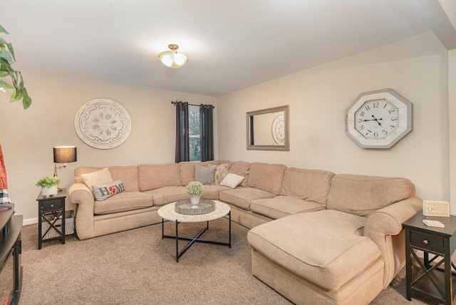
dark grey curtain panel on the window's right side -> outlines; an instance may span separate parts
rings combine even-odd
[[[212,105],[199,105],[199,123],[201,126],[201,161],[214,160],[214,131],[212,130]]]

